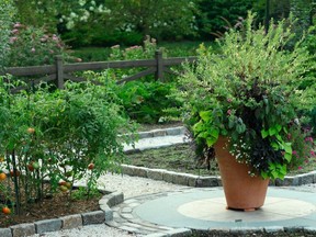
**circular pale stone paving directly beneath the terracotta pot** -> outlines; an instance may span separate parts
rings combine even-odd
[[[190,189],[143,202],[133,215],[169,227],[315,227],[316,194],[269,188],[264,205],[255,212],[226,210],[223,189]]]

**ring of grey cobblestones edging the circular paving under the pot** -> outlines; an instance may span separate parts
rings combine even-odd
[[[192,188],[193,189],[193,188]],[[191,192],[192,189],[183,189],[174,192],[163,192],[156,194],[148,194],[142,196],[135,196],[125,200],[120,205],[112,207],[113,219],[105,222],[106,225],[115,227],[125,232],[135,233],[144,235],[146,237],[182,237],[182,236],[206,236],[206,234],[212,234],[212,236],[225,236],[225,237],[236,237],[245,235],[259,235],[267,234],[270,236],[283,236],[289,233],[300,233],[311,236],[316,236],[316,227],[283,227],[283,226],[269,226],[269,227],[233,227],[233,228],[214,228],[207,230],[201,229],[189,229],[189,228],[172,228],[168,226],[153,224],[150,222],[140,219],[136,214],[134,214],[134,208],[142,205],[145,202],[163,198],[167,195],[173,195],[181,192]],[[207,188],[206,188],[207,189]],[[210,188],[214,189],[214,188]],[[255,234],[255,235],[253,235]],[[282,235],[283,234],[283,235]]]

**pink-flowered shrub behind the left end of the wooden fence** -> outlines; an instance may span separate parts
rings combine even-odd
[[[56,34],[46,33],[44,29],[13,24],[10,36],[8,66],[52,65],[55,55],[63,55],[66,60],[72,59],[67,46]]]

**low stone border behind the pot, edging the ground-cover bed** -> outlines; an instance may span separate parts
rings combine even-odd
[[[166,169],[150,169],[137,166],[122,165],[122,172],[127,176],[143,177],[154,180],[161,180],[174,184],[188,187],[221,187],[221,177],[216,176],[195,176],[190,173],[179,173]],[[297,174],[294,177],[285,177],[284,180],[271,181],[270,185],[290,187],[316,183],[316,171]]]

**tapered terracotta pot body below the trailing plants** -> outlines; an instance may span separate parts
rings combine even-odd
[[[238,163],[227,145],[228,138],[219,136],[214,146],[227,208],[255,211],[264,203],[269,180],[250,177],[248,166]]]

